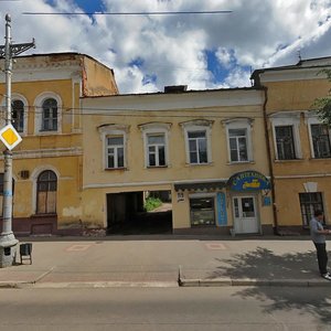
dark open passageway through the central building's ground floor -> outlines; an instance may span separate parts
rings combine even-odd
[[[158,191],[160,192],[160,191]],[[168,192],[168,191],[161,191]],[[149,192],[150,193],[150,192]],[[153,192],[154,193],[154,192]],[[168,194],[160,196],[161,205],[147,211],[146,192],[125,192],[107,194],[107,234],[166,234],[172,233],[172,205]]]

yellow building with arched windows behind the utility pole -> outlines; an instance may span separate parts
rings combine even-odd
[[[3,60],[1,65],[3,67]],[[2,75],[1,126],[4,124],[4,93]],[[113,71],[89,56],[60,53],[15,58],[12,116],[13,126],[23,138],[13,150],[12,227],[17,235],[82,229],[79,98],[117,93]],[[3,156],[0,172],[1,184]],[[0,191],[2,209],[3,189]]]

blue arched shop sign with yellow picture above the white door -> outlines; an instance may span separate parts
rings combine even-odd
[[[264,174],[248,170],[232,175],[227,181],[227,186],[232,191],[270,190],[270,182]]]

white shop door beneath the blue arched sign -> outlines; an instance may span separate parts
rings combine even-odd
[[[255,196],[234,196],[233,209],[236,234],[259,232]]]

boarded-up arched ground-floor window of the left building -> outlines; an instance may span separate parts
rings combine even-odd
[[[36,213],[56,213],[57,178],[51,170],[43,171],[36,180]]]

